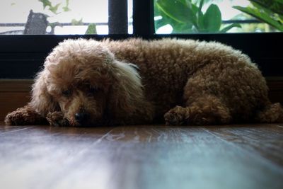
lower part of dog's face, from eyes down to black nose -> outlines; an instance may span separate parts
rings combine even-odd
[[[69,79],[49,83],[48,93],[57,101],[70,125],[93,125],[103,120],[107,109],[108,79]]]

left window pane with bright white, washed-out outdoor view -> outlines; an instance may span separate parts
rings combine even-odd
[[[1,0],[0,35],[17,34],[108,34],[108,1]]]

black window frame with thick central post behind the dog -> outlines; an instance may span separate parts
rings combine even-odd
[[[115,1],[115,0],[110,0]],[[140,16],[142,15],[142,16]],[[222,42],[247,54],[264,76],[283,78],[283,33],[154,33],[154,1],[133,0],[133,34],[110,35],[0,35],[0,79],[33,79],[45,57],[65,39],[183,38]]]

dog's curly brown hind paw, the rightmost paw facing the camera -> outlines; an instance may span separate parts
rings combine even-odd
[[[176,106],[169,110],[165,115],[164,119],[166,125],[183,125],[185,122],[184,108],[181,106]]]

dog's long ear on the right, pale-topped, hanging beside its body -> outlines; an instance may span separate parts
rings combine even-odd
[[[114,61],[113,84],[108,96],[108,111],[115,118],[130,116],[144,99],[141,78],[134,64]]]

